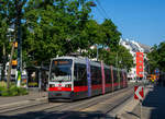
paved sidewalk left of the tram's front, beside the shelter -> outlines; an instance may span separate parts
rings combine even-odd
[[[26,100],[42,100],[47,98],[47,92],[30,91],[29,95],[24,96],[12,96],[12,97],[2,97],[0,96],[0,107],[2,105],[10,105],[13,103],[22,103]]]

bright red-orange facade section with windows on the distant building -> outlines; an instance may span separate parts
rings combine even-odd
[[[144,55],[143,52],[136,52],[136,76],[142,79],[144,72]]]

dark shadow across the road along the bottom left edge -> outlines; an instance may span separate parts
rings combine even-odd
[[[111,116],[105,115],[100,111],[37,111],[28,112],[15,116],[0,116],[0,119],[114,119]]]

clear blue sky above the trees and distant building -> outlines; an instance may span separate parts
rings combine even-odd
[[[122,38],[148,46],[165,41],[165,0],[94,1],[97,4],[91,12],[94,19],[98,23],[111,19]]]

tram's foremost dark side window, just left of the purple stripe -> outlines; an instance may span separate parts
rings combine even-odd
[[[87,70],[86,64],[75,63],[74,68],[74,85],[84,86],[87,85]]]

